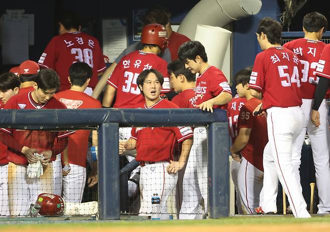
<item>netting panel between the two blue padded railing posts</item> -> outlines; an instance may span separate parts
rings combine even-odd
[[[180,131],[185,133],[187,128],[180,126]],[[186,129],[185,129],[186,128]],[[153,218],[159,210],[161,218],[195,219],[205,218],[208,213],[208,148],[207,127],[194,128],[193,145],[189,151],[186,165],[178,174],[169,174],[168,160],[158,160],[166,150],[162,140],[157,137],[167,138],[167,128],[164,127],[137,127],[136,130],[146,130],[143,138],[138,138],[141,155],[147,155],[146,162],[134,160],[136,150],[127,150],[120,157],[120,168],[124,170],[136,161],[135,165],[120,172],[120,211],[121,215],[141,215]],[[138,133],[138,132],[137,132]],[[119,128],[119,143],[127,142],[131,137],[130,127]],[[173,146],[173,154],[168,154],[174,161],[179,161],[183,142],[169,142]],[[156,152],[150,153],[148,147]],[[167,152],[167,151],[165,151]],[[141,159],[141,158],[140,158]],[[139,159],[139,160],[140,160]],[[143,159],[143,158],[142,158]],[[147,161],[149,160],[149,161]],[[132,162],[133,161],[133,162]],[[152,204],[153,194],[158,195],[159,205]]]

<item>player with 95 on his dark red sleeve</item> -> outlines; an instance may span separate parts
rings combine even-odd
[[[251,71],[251,68],[247,68],[245,74],[236,77],[237,93],[246,98],[247,102],[240,110],[238,136],[230,148],[233,159],[240,163],[236,190],[239,192],[242,214],[254,214],[254,209],[262,202],[262,154],[268,142],[266,117],[253,115],[261,100],[250,94]]]

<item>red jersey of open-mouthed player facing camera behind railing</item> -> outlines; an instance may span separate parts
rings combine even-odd
[[[161,99],[154,105],[144,108],[179,108],[174,103]],[[133,127],[131,138],[136,140],[137,161],[173,160],[174,144],[193,137],[191,127]]]

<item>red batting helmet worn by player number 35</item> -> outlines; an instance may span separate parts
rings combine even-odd
[[[161,24],[145,25],[141,33],[141,43],[157,45],[161,51],[164,51],[169,43],[168,33],[165,27]]]

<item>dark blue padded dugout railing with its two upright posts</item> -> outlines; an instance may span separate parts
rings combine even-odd
[[[207,126],[209,217],[229,216],[229,134],[225,110],[2,110],[0,126],[31,130],[98,129],[99,219],[120,219],[119,126]]]

